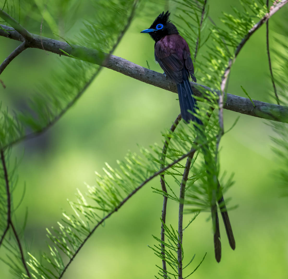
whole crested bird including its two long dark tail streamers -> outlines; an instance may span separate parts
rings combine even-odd
[[[197,101],[194,98],[189,81],[189,78],[191,77],[192,80],[196,82],[194,65],[187,42],[179,35],[177,27],[170,21],[169,16],[169,11],[162,12],[156,17],[148,29],[141,31],[140,33],[149,33],[151,38],[155,41],[155,60],[163,69],[166,78],[170,79],[177,86],[182,119],[186,123],[192,121],[194,127],[197,128],[200,125],[203,125],[203,123],[200,116],[197,115]],[[201,131],[201,129],[198,130]],[[207,173],[209,173],[208,170]],[[221,211],[229,244],[234,250],[234,235],[219,182],[217,186],[217,197],[219,197],[217,198],[217,203]],[[214,231],[215,258],[219,263],[221,259],[221,242],[216,202],[211,205],[211,214]]]

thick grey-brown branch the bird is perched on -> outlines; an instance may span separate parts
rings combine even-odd
[[[0,36],[9,37],[18,41],[24,40],[24,38],[17,31],[14,31],[13,28],[2,24],[0,24],[0,27],[2,28],[0,29]],[[61,42],[46,37],[41,38],[43,46],[47,51],[66,56],[66,54],[60,50],[62,49],[81,60],[88,61],[97,65],[102,65],[103,60],[108,55],[106,53],[88,49],[83,46],[70,46],[66,42]],[[40,36],[33,34],[33,39],[30,41],[29,47],[43,49],[41,45],[41,38]],[[151,84],[177,93],[176,85],[166,80],[162,73],[146,69],[121,57],[111,55],[107,60],[107,63],[103,66],[147,84]],[[220,91],[214,90],[207,86],[203,86],[194,82],[191,82],[190,84],[192,86],[193,93],[198,97],[203,97],[203,90],[208,90],[218,95],[220,94]],[[254,107],[251,101],[247,98],[229,93],[225,93],[225,96],[227,96],[227,99],[223,106],[224,109],[247,114],[250,116],[288,123],[288,107],[253,100],[255,104]]]

